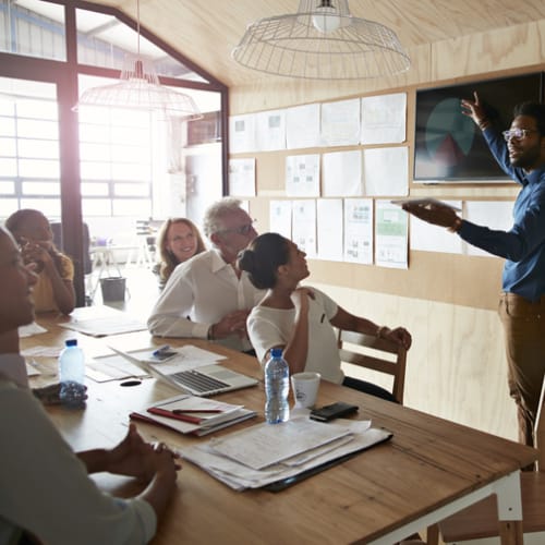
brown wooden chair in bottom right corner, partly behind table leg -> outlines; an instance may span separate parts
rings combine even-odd
[[[540,410],[535,425],[535,443],[538,450],[537,471],[523,471],[520,475],[522,493],[522,528],[525,544],[545,543],[545,382],[542,386]],[[438,525],[428,529],[428,545],[438,543],[440,533],[444,543],[465,545],[499,544],[500,524],[498,524],[496,496],[479,501]],[[438,532],[436,531],[438,526]]]

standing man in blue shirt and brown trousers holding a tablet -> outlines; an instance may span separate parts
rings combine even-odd
[[[511,128],[502,133],[487,119],[476,93],[474,101],[462,100],[462,113],[483,131],[496,161],[521,185],[513,226],[509,231],[491,230],[461,219],[443,205],[405,204],[403,208],[506,259],[499,316],[509,391],[517,403],[519,440],[533,446],[545,374],[545,105],[518,105]]]

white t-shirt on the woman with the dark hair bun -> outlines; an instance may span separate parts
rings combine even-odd
[[[337,303],[315,288],[315,299],[308,300],[308,353],[305,371],[320,373],[322,378],[341,384],[339,349],[335,329],[329,323],[337,314]],[[293,332],[295,308],[282,310],[256,306],[247,317],[247,334],[257,359],[265,363],[271,348],[286,346]]]

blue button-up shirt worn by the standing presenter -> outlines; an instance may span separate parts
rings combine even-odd
[[[509,231],[463,221],[458,234],[470,244],[506,258],[502,288],[529,301],[545,294],[545,165],[526,174],[510,165],[507,144],[489,128],[484,137],[504,171],[522,189],[514,202]]]

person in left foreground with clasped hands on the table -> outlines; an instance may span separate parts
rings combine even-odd
[[[36,275],[1,227],[0,271],[0,543],[147,543],[175,487],[175,457],[133,425],[112,449],[71,450],[28,389],[17,327],[34,318]],[[100,471],[135,477],[145,489],[113,498],[87,476]]]

